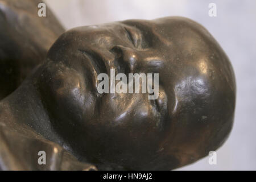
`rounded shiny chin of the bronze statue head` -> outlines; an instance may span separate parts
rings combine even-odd
[[[84,123],[84,118],[93,118],[96,96],[86,85],[89,81],[73,69],[55,72],[44,80],[43,92],[47,93],[47,105],[56,121],[76,125]]]

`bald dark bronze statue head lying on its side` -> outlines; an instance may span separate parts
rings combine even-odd
[[[159,97],[97,92],[97,75],[159,73]],[[37,81],[56,131],[81,160],[172,169],[224,142],[232,123],[232,67],[207,30],[185,18],[126,20],[65,32]]]

